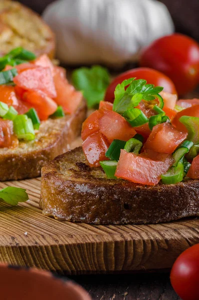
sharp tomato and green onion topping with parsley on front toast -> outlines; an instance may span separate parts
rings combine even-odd
[[[172,184],[199,178],[199,100],[178,100],[163,87],[128,78],[114,102],[101,101],[84,121],[82,148],[108,178]]]

